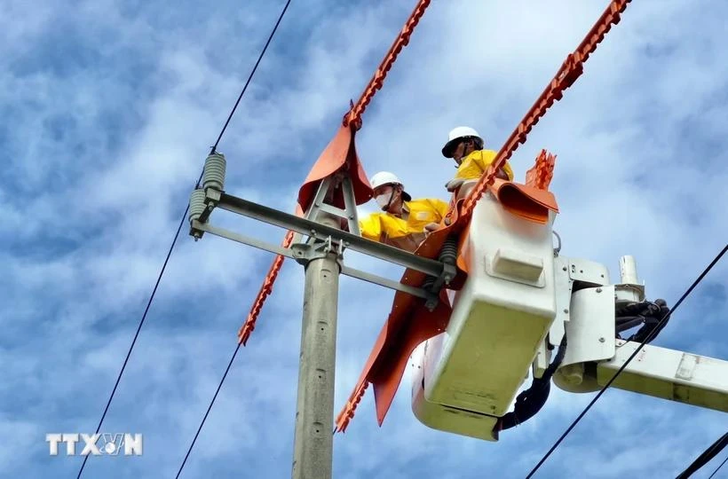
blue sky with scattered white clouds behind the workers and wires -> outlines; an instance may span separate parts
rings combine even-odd
[[[45,434],[95,430],[202,162],[283,3],[4,1],[3,476],[75,477],[82,458],[49,457]],[[447,131],[471,125],[499,149],[606,4],[432,2],[364,116],[368,174],[394,169],[413,196],[447,199]],[[292,2],[220,143],[227,191],[292,211],[414,5]],[[634,255],[648,296],[669,305],[728,239],[726,16],[720,0],[630,4],[512,160],[522,180],[542,147],[558,154],[562,253],[615,276],[619,256]],[[282,238],[226,212],[215,218]],[[102,427],[142,433],[144,455],[90,458],[83,477],[177,473],[271,260],[183,230]],[[303,278],[286,263],[182,477],[290,475]],[[726,283],[724,261],[654,344],[728,358]],[[340,298],[336,412],[392,291],[344,277]],[[382,428],[368,391],[335,436],[334,475],[523,477],[591,397],[554,388],[537,417],[487,443],[415,420],[406,377]],[[722,412],[610,390],[536,476],[672,477],[726,428]]]

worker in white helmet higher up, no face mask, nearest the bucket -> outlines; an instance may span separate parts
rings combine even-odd
[[[457,127],[450,130],[447,143],[442,147],[442,155],[452,158],[457,163],[455,177],[445,187],[448,192],[455,192],[465,183],[475,183],[486,172],[497,154],[493,150],[484,150],[485,142],[478,131],[471,127]],[[508,161],[496,173],[504,180],[513,180],[513,170]]]

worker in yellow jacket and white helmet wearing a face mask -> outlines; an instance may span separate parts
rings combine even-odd
[[[413,200],[393,173],[380,171],[369,180],[383,213],[372,213],[359,222],[361,236],[414,252],[429,232],[447,215],[443,200]]]

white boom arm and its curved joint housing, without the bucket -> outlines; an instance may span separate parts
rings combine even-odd
[[[554,376],[560,389],[602,389],[640,347],[641,341],[615,338],[620,320],[615,304],[625,286],[584,288],[572,295],[566,336],[575,346]],[[728,361],[722,359],[645,344],[611,386],[728,412]]]

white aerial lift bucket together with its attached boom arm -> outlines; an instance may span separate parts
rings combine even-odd
[[[728,412],[728,361],[615,339],[619,304],[645,298],[634,258],[621,257],[621,283],[610,284],[604,264],[554,254],[552,222],[512,216],[490,194],[479,201],[470,272],[463,289],[448,294],[454,310],[447,331],[410,358],[415,417],[430,428],[498,441],[497,419],[529,365],[542,377],[547,346],[558,346],[565,333],[566,354],[553,376],[560,389],[602,389],[640,349],[613,388]]]

